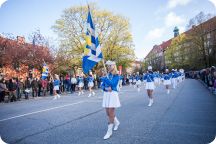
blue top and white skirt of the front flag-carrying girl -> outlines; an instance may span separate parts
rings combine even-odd
[[[104,91],[102,106],[105,108],[117,108],[120,107],[120,101],[118,96],[118,84],[119,75],[108,74],[107,77],[102,79],[101,88]],[[109,87],[112,91],[108,91]]]

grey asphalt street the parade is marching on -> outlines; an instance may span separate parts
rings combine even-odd
[[[124,86],[116,111],[121,124],[108,140],[102,95],[0,103],[0,136],[9,144],[207,144],[216,136],[216,96],[197,80],[186,79],[170,94],[158,86],[152,107],[144,85],[140,92]]]

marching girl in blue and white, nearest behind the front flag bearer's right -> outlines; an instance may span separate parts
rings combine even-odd
[[[155,76],[152,72],[152,66],[148,66],[148,71],[144,75],[143,80],[146,81],[145,89],[147,90],[147,94],[149,97],[149,104],[148,104],[149,107],[152,106],[152,104],[154,103],[153,100],[153,91],[155,89],[154,78]]]

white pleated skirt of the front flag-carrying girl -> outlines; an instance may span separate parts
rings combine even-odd
[[[102,107],[104,107],[104,108],[118,108],[120,106],[121,106],[121,104],[120,104],[118,92],[116,92],[116,91],[104,92]]]

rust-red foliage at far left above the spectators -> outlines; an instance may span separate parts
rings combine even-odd
[[[1,69],[7,69],[11,74],[22,75],[33,68],[41,70],[43,62],[53,63],[53,56],[48,47],[0,37]],[[11,74],[9,77],[12,77]]]

